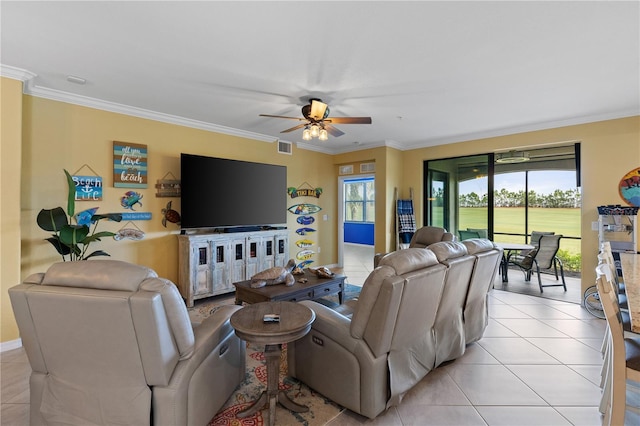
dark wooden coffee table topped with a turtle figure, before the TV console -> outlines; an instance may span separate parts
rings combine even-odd
[[[294,275],[296,282],[287,287],[284,284],[267,285],[261,288],[251,288],[251,280],[233,283],[236,287],[236,304],[313,300],[320,297],[338,294],[338,302],[342,305],[344,299],[344,275],[335,274],[332,278],[320,278],[308,269],[304,275]],[[298,280],[306,278],[306,283]]]

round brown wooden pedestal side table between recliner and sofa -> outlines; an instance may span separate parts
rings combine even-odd
[[[276,314],[279,322],[265,322],[264,316]],[[311,329],[316,314],[304,305],[295,302],[262,302],[247,305],[231,315],[231,326],[242,340],[264,344],[267,364],[267,390],[248,408],[237,414],[248,417],[261,410],[269,402],[269,425],[275,425],[276,404],[296,413],[304,413],[309,407],[296,404],[284,391],[278,389],[280,354],[282,344],[293,342]]]

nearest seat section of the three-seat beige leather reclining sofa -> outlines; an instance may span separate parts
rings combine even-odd
[[[289,343],[289,375],[374,418],[433,368],[435,321],[446,266],[429,250],[388,254],[362,287],[353,317],[311,301],[311,331]]]

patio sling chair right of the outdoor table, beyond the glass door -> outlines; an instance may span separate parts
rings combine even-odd
[[[511,256],[508,259],[508,263],[515,265],[524,272],[525,281],[531,281],[531,274],[535,269],[538,274],[538,286],[540,287],[540,293],[543,293],[543,287],[564,287],[564,291],[567,291],[567,284],[564,279],[564,267],[562,261],[556,256],[558,249],[560,248],[560,239],[562,235],[541,235],[538,243],[538,248],[531,250],[526,256]],[[551,269],[556,275],[556,281],[558,280],[558,266],[560,266],[560,276],[562,277],[562,284],[542,284],[542,278],[540,276],[541,269]]]

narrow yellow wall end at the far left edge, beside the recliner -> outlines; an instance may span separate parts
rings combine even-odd
[[[20,143],[22,83],[0,81],[0,342],[13,340],[18,328],[7,294],[20,281]],[[5,326],[6,325],[6,326]]]

